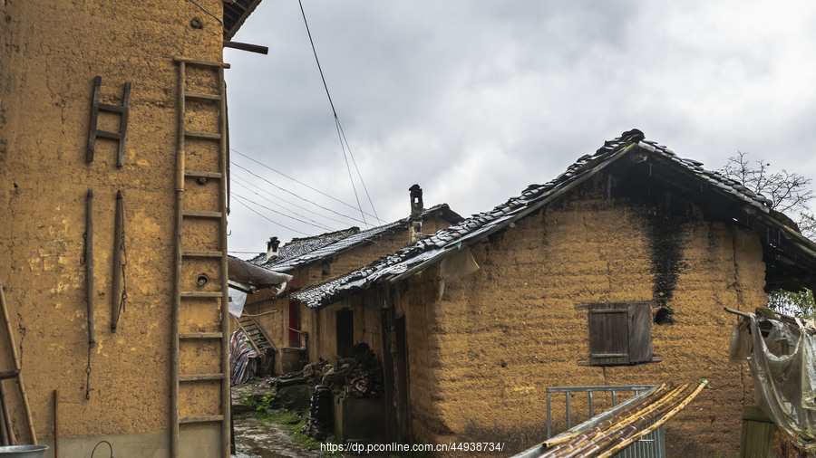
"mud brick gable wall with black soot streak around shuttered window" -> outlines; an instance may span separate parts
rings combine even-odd
[[[447,284],[440,299],[438,273],[414,276],[402,299],[413,433],[520,451],[546,437],[548,386],[705,377],[715,389],[665,426],[668,452],[737,453],[753,382],[745,365],[727,361],[734,318],[723,307],[767,302],[761,246],[753,234],[696,217],[663,223],[670,229],[649,208],[572,200],[471,247],[481,269]],[[667,243],[674,253],[661,252]],[[652,324],[662,362],[578,365],[588,360],[588,312],[575,305],[611,301],[658,301],[675,311],[674,324]],[[552,403],[555,432],[564,429],[560,396]],[[609,400],[599,397],[602,409]],[[588,417],[585,396],[575,395],[572,406],[574,422]]]

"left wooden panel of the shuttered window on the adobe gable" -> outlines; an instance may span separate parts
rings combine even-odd
[[[629,364],[627,303],[589,304],[589,364]]]

